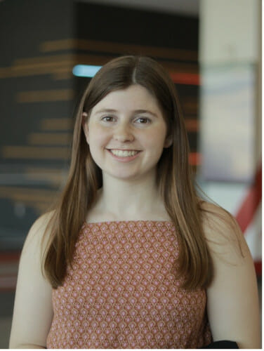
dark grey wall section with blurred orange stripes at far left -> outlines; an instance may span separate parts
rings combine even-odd
[[[70,0],[0,2],[0,250],[22,246],[30,225],[58,189],[58,182],[44,173],[67,162],[52,157],[55,148],[67,146],[49,140],[44,145],[34,134],[55,133],[44,128],[46,120],[72,114],[72,99],[55,97],[71,91],[72,77],[55,77],[62,58],[43,46],[73,37],[73,11]],[[70,53],[72,49],[63,51]]]

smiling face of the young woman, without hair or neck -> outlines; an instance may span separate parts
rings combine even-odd
[[[83,126],[95,164],[114,178],[155,175],[163,148],[171,145],[157,100],[140,85],[106,95]]]

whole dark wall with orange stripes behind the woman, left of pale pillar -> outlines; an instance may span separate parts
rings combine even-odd
[[[197,18],[72,0],[1,1],[0,44],[0,251],[21,249],[67,174],[74,106],[89,81],[73,77],[74,65],[141,54],[181,74],[174,81],[197,151]]]

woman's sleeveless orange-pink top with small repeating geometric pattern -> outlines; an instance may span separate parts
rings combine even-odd
[[[72,268],[53,289],[47,348],[199,348],[212,341],[206,291],[176,279],[169,221],[84,223]]]

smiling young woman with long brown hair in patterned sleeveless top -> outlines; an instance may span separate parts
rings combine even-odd
[[[260,347],[251,254],[230,213],[197,196],[188,152],[157,62],[100,69],[65,189],[22,250],[10,347]]]

